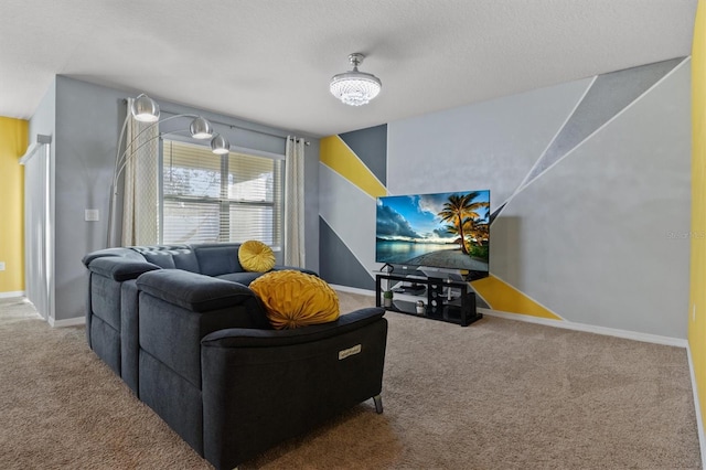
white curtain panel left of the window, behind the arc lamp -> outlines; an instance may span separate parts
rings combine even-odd
[[[130,114],[126,129],[122,246],[159,243],[159,125],[140,122]]]

